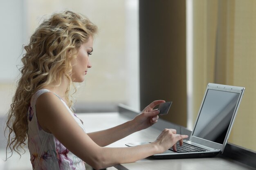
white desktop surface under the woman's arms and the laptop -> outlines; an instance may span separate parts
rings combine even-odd
[[[84,113],[79,114],[83,120],[87,132],[94,132],[111,128],[130,120],[119,113]],[[170,128],[170,127],[166,127]],[[160,130],[150,127],[145,130],[136,132],[124,139],[121,139],[109,147],[126,147],[128,142],[154,141],[160,134]],[[226,157],[217,156],[212,158],[196,159],[153,159],[146,158],[133,163],[122,163],[115,166],[118,170],[253,170],[254,168],[246,166]]]

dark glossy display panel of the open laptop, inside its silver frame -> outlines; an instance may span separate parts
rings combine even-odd
[[[223,144],[239,95],[208,89],[193,136]]]

